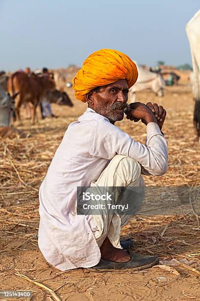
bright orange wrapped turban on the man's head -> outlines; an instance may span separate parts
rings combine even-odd
[[[91,54],[73,78],[75,97],[86,102],[84,95],[99,86],[126,79],[128,88],[135,84],[138,71],[135,63],[124,53],[101,49]]]

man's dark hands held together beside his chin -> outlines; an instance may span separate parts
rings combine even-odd
[[[166,110],[157,103],[148,102],[147,105],[141,102],[130,103],[131,110],[128,111],[126,118],[137,122],[141,120],[146,125],[149,122],[155,122],[162,129],[166,117]]]

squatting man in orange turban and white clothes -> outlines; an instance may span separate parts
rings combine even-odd
[[[39,248],[55,268],[66,271],[142,270],[157,256],[129,251],[132,241],[120,241],[126,220],[120,215],[76,214],[77,186],[145,186],[142,174],[167,172],[168,148],[161,132],[166,111],[157,104],[130,104],[126,118],[147,125],[146,144],[134,141],[114,125],[123,120],[128,89],[138,77],[125,54],[102,49],[91,54],[73,79],[78,100],[88,103],[72,122],[51,161],[39,191]],[[141,201],[135,208],[140,207]]]

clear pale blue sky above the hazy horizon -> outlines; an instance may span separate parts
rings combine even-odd
[[[0,70],[81,66],[101,48],[138,63],[191,63],[185,25],[200,0],[0,0]]]

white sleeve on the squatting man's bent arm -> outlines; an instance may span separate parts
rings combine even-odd
[[[146,145],[134,141],[109,121],[99,122],[94,139],[93,155],[112,159],[116,154],[126,155],[138,161],[145,175],[161,176],[167,172],[167,141],[155,122],[147,125]]]

